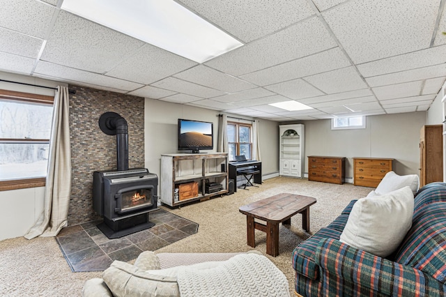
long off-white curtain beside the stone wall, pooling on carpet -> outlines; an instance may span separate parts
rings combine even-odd
[[[54,97],[43,213],[25,238],[56,236],[68,225],[71,192],[71,148],[68,87],[58,86]]]

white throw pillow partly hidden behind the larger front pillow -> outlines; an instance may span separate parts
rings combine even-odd
[[[413,195],[417,193],[420,186],[420,178],[417,174],[398,175],[394,172],[387,172],[378,187],[376,187],[375,192],[377,195],[384,195],[406,186],[410,187]]]

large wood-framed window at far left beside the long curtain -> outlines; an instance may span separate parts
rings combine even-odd
[[[0,90],[0,190],[45,185],[53,100]]]

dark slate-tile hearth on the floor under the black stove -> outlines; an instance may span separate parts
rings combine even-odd
[[[109,239],[87,222],[62,229],[56,241],[73,272],[104,271],[114,260],[130,261],[145,250],[157,250],[197,233],[198,224],[159,209],[149,215],[155,223],[150,229]]]

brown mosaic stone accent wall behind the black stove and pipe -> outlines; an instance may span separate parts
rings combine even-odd
[[[72,86],[70,139],[72,186],[68,224],[96,220],[93,211],[93,172],[116,169],[116,136],[100,130],[105,112],[116,112],[128,122],[129,168],[144,167],[144,98]]]

